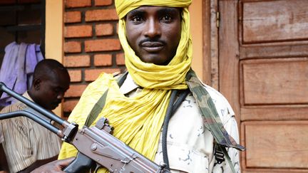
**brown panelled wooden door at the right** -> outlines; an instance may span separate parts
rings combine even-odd
[[[219,89],[242,172],[308,172],[308,1],[218,0]]]

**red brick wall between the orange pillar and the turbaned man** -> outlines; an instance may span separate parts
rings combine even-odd
[[[65,0],[63,64],[71,75],[63,112],[67,117],[88,83],[101,72],[125,69],[113,0]]]

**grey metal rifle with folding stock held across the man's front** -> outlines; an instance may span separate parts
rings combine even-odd
[[[20,110],[0,114],[0,120],[25,116],[38,122],[51,132],[61,137],[63,141],[70,143],[77,148],[78,154],[76,159],[71,162],[63,171],[65,172],[86,172],[88,169],[106,167],[110,172],[163,172],[170,173],[165,169],[164,164],[158,165],[136,152],[124,142],[121,142],[110,133],[113,127],[108,125],[106,118],[101,118],[94,127],[84,126],[81,130],[74,122],[68,122],[61,119],[52,112],[43,109],[31,100],[24,98],[18,93],[10,90],[0,83],[0,93],[7,93],[22,103],[28,105],[31,109]],[[1,94],[0,94],[1,95]],[[46,120],[41,115],[50,120]],[[63,129],[58,129],[51,124],[51,120],[60,124]]]

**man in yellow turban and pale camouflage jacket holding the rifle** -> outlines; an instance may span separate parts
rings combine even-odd
[[[190,67],[191,1],[115,3],[128,73],[116,78],[102,73],[83,92],[68,121],[82,127],[91,118],[95,125],[99,117],[107,117],[115,137],[154,162],[165,162],[172,172],[240,172],[237,150],[244,147],[237,144],[234,112]],[[103,93],[104,106],[91,117]],[[59,159],[76,152],[63,143]]]

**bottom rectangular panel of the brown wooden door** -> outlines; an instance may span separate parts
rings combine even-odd
[[[308,121],[245,122],[244,127],[247,168],[308,168]]]

